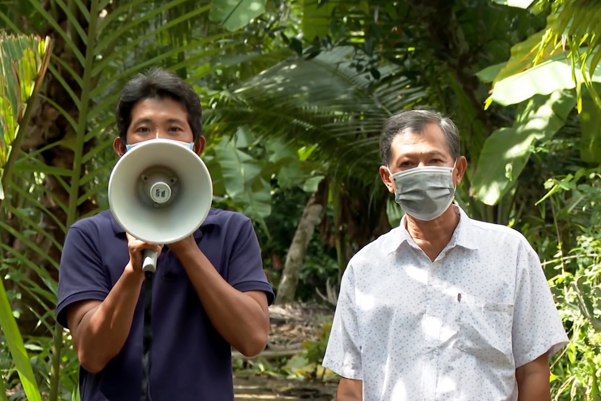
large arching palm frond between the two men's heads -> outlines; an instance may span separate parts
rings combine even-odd
[[[379,67],[377,81],[371,72],[358,72],[355,52],[340,46],[310,59],[290,58],[222,93],[210,116],[213,131],[248,126],[299,146],[317,143],[332,173],[371,183],[383,122],[424,91],[391,64]]]

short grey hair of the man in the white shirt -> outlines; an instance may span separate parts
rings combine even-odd
[[[387,166],[392,157],[392,141],[397,135],[406,133],[421,133],[428,124],[438,124],[447,138],[449,153],[453,160],[461,155],[459,144],[459,129],[448,117],[433,109],[403,110],[386,120],[380,135],[380,156],[382,164]]]

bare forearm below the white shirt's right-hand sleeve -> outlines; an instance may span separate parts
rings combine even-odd
[[[518,401],[550,401],[549,359],[543,354],[516,369]]]

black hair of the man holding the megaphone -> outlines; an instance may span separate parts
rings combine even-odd
[[[182,78],[156,67],[145,74],[139,73],[121,90],[115,112],[121,140],[125,142],[127,139],[134,106],[142,100],[156,97],[159,99],[168,97],[182,105],[188,114],[188,124],[196,141],[203,133],[203,110],[198,94]]]

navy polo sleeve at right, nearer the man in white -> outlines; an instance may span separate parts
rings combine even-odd
[[[275,296],[263,271],[261,248],[250,219],[242,223],[234,240],[227,281],[230,286],[241,292],[263,291],[267,295],[267,304],[271,305]]]

